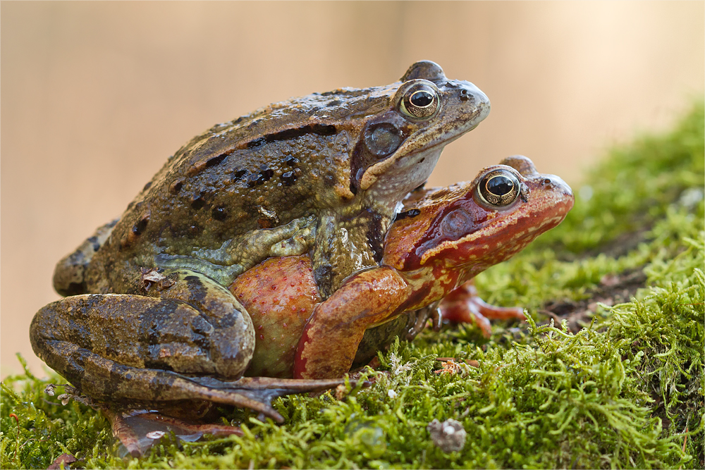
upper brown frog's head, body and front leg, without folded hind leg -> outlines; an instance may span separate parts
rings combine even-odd
[[[379,263],[401,200],[489,109],[472,83],[419,61],[391,85],[314,93],[215,125],[59,262],[56,290],[143,294],[140,268],[228,285],[269,256],[310,251],[328,297]]]

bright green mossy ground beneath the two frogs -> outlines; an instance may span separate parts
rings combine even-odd
[[[231,411],[244,437],[142,459],[116,457],[96,412],[44,395],[61,378],[27,372],[2,386],[0,466],[68,453],[87,468],[704,468],[704,115],[697,104],[672,132],[609,152],[563,224],[479,276],[527,323],[491,340],[426,331],[381,354],[390,373],[370,388],[277,400],[281,426]],[[437,357],[477,367],[439,373]],[[467,431],[460,452],[429,438],[448,418]]]

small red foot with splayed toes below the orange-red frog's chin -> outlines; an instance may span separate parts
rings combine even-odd
[[[489,338],[492,320],[525,320],[524,309],[521,307],[496,307],[480,299],[472,280],[460,285],[450,292],[441,302],[443,320],[453,323],[474,323],[482,330],[482,335]]]

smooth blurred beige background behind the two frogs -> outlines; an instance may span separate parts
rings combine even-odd
[[[525,154],[573,185],[612,142],[704,87],[702,1],[2,2],[1,375],[61,256],[121,214],[190,137],[291,96],[394,82],[434,60],[492,113],[431,184]]]

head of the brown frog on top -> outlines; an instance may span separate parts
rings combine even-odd
[[[450,80],[434,62],[413,64],[391,85],[386,111],[364,123],[350,171],[350,190],[398,201],[424,183],[443,147],[489,114],[486,95],[470,82]]]

